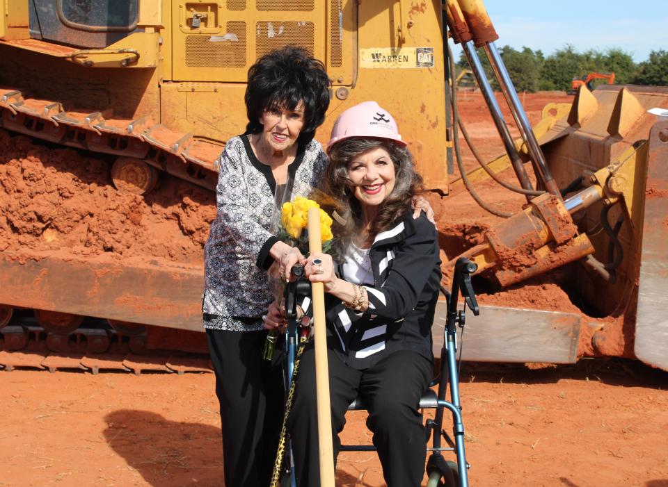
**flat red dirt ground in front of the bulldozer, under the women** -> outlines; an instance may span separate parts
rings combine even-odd
[[[463,364],[470,484],[668,486],[667,384],[630,361]],[[15,370],[0,390],[1,486],[223,486],[213,374]],[[344,443],[368,443],[347,419]],[[336,484],[383,486],[376,454],[342,453]]]

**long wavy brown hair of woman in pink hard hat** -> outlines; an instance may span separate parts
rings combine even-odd
[[[354,185],[348,176],[348,166],[358,154],[383,147],[395,166],[395,187],[379,205],[376,217],[369,226],[370,236],[388,230],[392,223],[411,210],[411,200],[422,192],[422,177],[415,172],[413,156],[406,147],[392,140],[379,138],[350,138],[333,145],[329,151],[324,189],[336,205],[345,224],[335,222],[335,236],[351,237],[363,229],[363,211],[355,197]]]

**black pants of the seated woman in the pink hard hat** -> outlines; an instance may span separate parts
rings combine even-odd
[[[338,433],[346,422],[345,413],[359,394],[368,406],[367,427],[373,433],[388,487],[420,486],[427,443],[417,405],[429,386],[431,363],[408,350],[394,352],[365,370],[345,365],[331,351],[328,363],[334,459],[341,445]],[[311,346],[301,357],[288,423],[300,487],[320,485],[316,403],[315,351]]]

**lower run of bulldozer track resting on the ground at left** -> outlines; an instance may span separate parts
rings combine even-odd
[[[0,370],[99,372],[212,372],[206,354],[147,348],[146,333],[125,335],[86,318],[72,333],[49,333],[25,313],[0,329]]]

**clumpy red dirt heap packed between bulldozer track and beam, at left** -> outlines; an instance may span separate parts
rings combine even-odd
[[[145,197],[116,190],[109,163],[0,131],[0,251],[146,256],[200,263],[215,195],[161,175]]]

